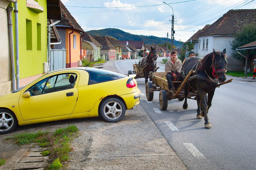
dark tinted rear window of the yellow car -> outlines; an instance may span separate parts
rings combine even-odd
[[[127,77],[127,75],[111,72],[107,70],[97,69],[97,68],[88,68],[85,69],[90,75],[89,84],[102,83],[106,81],[112,81],[116,79],[121,79]]]

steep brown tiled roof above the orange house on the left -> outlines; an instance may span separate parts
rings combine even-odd
[[[65,5],[61,1],[60,1],[60,3],[61,3],[62,18],[61,18],[61,21],[57,25],[73,27],[75,30],[84,32],[84,30],[80,27],[80,25],[77,23],[75,18],[67,10]]]

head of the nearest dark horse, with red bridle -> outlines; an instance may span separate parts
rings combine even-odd
[[[213,56],[212,56],[212,75],[218,78],[220,83],[223,83],[226,80],[226,72],[227,72],[227,60],[226,60],[226,49],[222,52],[215,51],[213,49]]]

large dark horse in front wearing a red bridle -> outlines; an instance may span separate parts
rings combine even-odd
[[[223,83],[226,80],[228,63],[226,58],[226,49],[222,52],[216,52],[213,49],[213,52],[204,56],[201,61],[197,57],[190,57],[183,64],[182,70],[185,76],[188,75],[190,70],[196,70],[196,72],[191,74],[191,77],[185,83],[185,101],[182,108],[185,110],[188,108],[187,96],[189,91],[197,93],[197,118],[202,119],[204,117],[205,128],[212,127],[208,119],[208,110],[212,105],[212,98],[218,82]],[[208,101],[205,98],[205,94],[207,93]]]

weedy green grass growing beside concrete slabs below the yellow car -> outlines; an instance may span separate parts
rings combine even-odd
[[[72,152],[71,142],[78,137],[79,129],[75,125],[56,129],[53,133],[38,131],[37,133],[21,133],[5,140],[14,140],[19,145],[29,144],[31,142],[40,142],[40,147],[49,147],[48,150],[41,152],[43,156],[49,156],[49,165],[45,169],[60,169],[62,163],[69,160],[69,154]],[[43,143],[42,143],[43,142]],[[0,163],[1,163],[0,159]],[[5,160],[3,160],[5,162]],[[4,163],[3,162],[3,163]],[[66,166],[67,164],[65,164]]]

